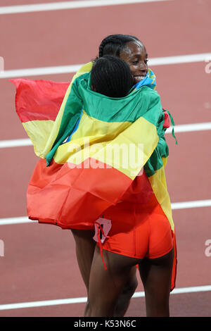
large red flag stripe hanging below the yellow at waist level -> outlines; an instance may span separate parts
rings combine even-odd
[[[109,206],[116,204],[132,180],[115,168],[70,168],[54,161],[46,167],[41,159],[34,170],[27,191],[30,219],[63,228],[86,229]]]

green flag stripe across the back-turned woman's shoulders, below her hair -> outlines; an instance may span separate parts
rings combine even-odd
[[[135,89],[123,98],[110,98],[91,90],[90,75],[84,77],[78,85],[79,94],[84,101],[84,111],[98,120],[106,122],[134,122],[143,116],[156,125],[158,117],[162,113],[160,96],[158,92],[150,87],[143,86]],[[158,104],[160,109],[158,111]],[[151,111],[153,107],[157,111]],[[144,115],[146,113],[146,115]]]

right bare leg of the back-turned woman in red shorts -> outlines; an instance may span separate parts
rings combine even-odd
[[[170,286],[174,251],[160,258],[144,258],[139,272],[145,291],[146,316],[170,316]]]

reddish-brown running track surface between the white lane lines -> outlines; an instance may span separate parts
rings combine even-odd
[[[29,2],[29,1],[28,1]],[[33,1],[42,3],[42,1]],[[53,2],[53,1],[44,1]],[[56,2],[56,1],[54,1]],[[1,6],[27,1],[1,0]],[[94,8],[1,15],[5,70],[86,63],[103,37],[136,35],[152,58],[208,53],[209,0],[177,0]],[[211,121],[211,74],[205,62],[153,66],[162,105],[176,125]],[[69,81],[72,74],[28,77]],[[13,85],[0,80],[0,139],[27,138],[15,114]],[[172,202],[211,199],[210,130],[167,135],[167,184]],[[0,149],[0,218],[26,216],[25,195],[37,157],[32,146]],[[177,288],[210,285],[210,207],[173,211],[177,233]],[[1,224],[1,220],[0,220]],[[3,304],[86,296],[69,230],[36,223],[1,225],[0,308]],[[137,291],[143,291],[141,281]],[[171,316],[211,316],[211,292],[172,294]],[[0,310],[0,316],[83,316],[84,303]],[[134,298],[127,316],[146,316],[144,298]]]

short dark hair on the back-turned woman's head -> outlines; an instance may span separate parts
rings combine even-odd
[[[129,65],[117,56],[102,56],[94,61],[91,85],[96,92],[120,98],[128,94],[132,83]]]

